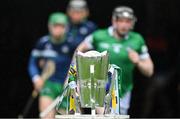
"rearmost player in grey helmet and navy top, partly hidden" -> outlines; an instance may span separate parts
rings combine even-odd
[[[85,0],[71,0],[67,6],[69,17],[69,33],[71,39],[75,41],[75,46],[79,45],[84,38],[96,29],[96,25],[89,21],[89,9]]]

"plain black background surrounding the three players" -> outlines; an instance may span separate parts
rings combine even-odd
[[[178,0],[87,0],[90,19],[99,28],[111,24],[114,7],[127,5],[155,64],[151,79],[138,71],[131,117],[180,117],[180,7]],[[65,12],[68,0],[0,1],[0,117],[17,117],[32,91],[27,73],[30,51],[48,33],[48,15]],[[37,100],[30,117],[38,116]]]

